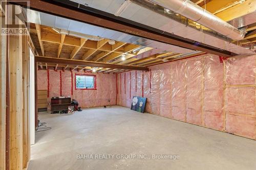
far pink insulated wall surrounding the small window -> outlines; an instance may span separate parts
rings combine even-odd
[[[75,75],[96,75],[96,90],[75,89]],[[53,96],[71,96],[78,101],[79,106],[99,107],[116,105],[116,75],[91,74],[77,71],[62,70],[38,70],[38,90],[49,88],[48,103]],[[48,106],[48,110],[51,106]]]

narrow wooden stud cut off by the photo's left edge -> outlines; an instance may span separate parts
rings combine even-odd
[[[5,19],[4,16],[1,16]],[[0,32],[0,169],[6,166],[6,35]]]

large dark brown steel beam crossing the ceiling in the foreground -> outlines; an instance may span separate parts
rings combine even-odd
[[[192,42],[191,40],[187,40],[177,35],[174,36],[173,34],[168,34],[166,32],[163,33],[162,31],[160,33],[159,30],[147,31],[147,28],[145,28],[145,26],[140,25],[140,23],[136,23],[136,27],[133,26],[131,21],[128,23],[128,21],[125,19],[122,23],[120,23],[118,20],[114,19],[116,18],[115,15],[109,15],[108,17],[106,17],[103,14],[103,12],[99,11],[97,11],[97,15],[95,15],[95,11],[92,12],[87,9],[82,9],[83,11],[75,10],[74,8],[68,8],[67,4],[63,3],[64,2],[54,2],[53,4],[45,1],[35,0],[31,1],[30,8],[34,8],[36,10],[40,10],[46,13],[51,13],[52,9],[54,9],[54,13],[62,17],[74,18],[78,21],[90,23],[92,25],[96,25],[99,27],[104,27],[123,33],[129,33],[131,35],[144,37],[172,45],[178,45],[180,47],[188,48],[191,50],[202,51],[210,54],[220,55],[223,57],[231,57],[237,55],[225,50],[220,51],[214,47],[203,44],[201,42]],[[20,3],[16,2],[16,4]],[[83,59],[86,57],[87,56],[84,56]]]

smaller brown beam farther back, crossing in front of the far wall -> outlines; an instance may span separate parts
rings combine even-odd
[[[54,57],[35,57],[35,61],[38,62],[48,62],[48,63],[59,63],[59,64],[70,64],[70,65],[80,65],[80,66],[91,66],[91,67],[102,67],[102,68],[120,68],[120,69],[131,69],[131,70],[148,70],[147,67],[138,67],[132,65],[121,65],[121,64],[110,64],[94,61],[81,61],[81,60],[71,60],[62,59]]]

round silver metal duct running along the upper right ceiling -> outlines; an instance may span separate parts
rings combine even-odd
[[[233,40],[241,40],[244,38],[246,32],[240,31],[237,28],[234,28],[229,23],[220,19],[219,17],[211,14],[210,12],[199,7],[195,3],[189,0],[175,0],[175,1],[166,1],[166,0],[147,0],[152,3],[155,3],[159,6],[162,6],[168,10],[177,12],[180,15],[183,15],[191,20],[194,20],[201,25],[212,29],[222,35],[225,35]]]

